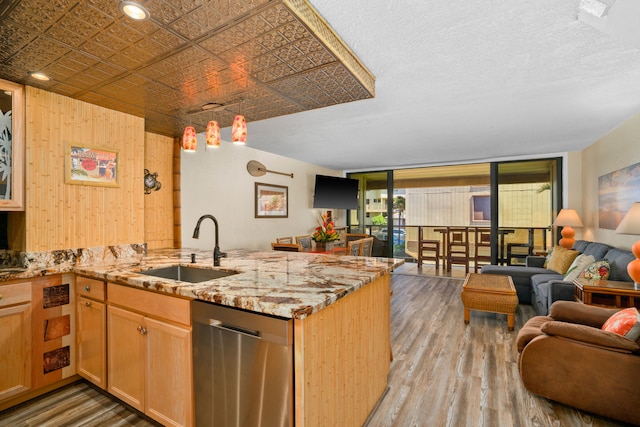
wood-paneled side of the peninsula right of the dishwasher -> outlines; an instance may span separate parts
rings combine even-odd
[[[361,426],[387,386],[390,275],[294,320],[296,426]]]

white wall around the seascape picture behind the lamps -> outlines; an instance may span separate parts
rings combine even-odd
[[[640,236],[598,227],[598,177],[640,162],[640,114],[582,151],[582,222],[587,240],[629,249]]]

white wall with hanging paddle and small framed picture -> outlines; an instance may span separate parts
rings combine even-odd
[[[304,143],[304,142],[301,142]],[[213,222],[205,220],[200,238],[193,239],[198,218],[211,214],[218,220],[220,249],[271,249],[277,237],[311,234],[325,209],[313,209],[316,174],[343,176],[336,171],[251,148],[222,142],[220,148],[205,150],[204,134],[198,135],[198,150],[181,153],[182,246],[213,249]],[[254,177],[247,163],[257,160],[269,170],[293,173],[289,176],[267,173]],[[288,218],[255,218],[255,183],[284,185],[289,191]],[[345,210],[333,210],[337,225],[345,225]]]

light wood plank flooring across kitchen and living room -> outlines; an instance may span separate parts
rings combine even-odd
[[[391,286],[389,388],[367,427],[391,426],[623,426],[534,396],[522,387],[515,338],[534,315],[518,307],[515,331],[506,316],[471,312],[463,322],[464,270],[432,277],[407,264]],[[0,413],[0,426],[151,426],[137,412],[86,383]],[[333,427],[333,426],[331,426]]]

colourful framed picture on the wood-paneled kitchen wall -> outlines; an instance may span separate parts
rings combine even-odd
[[[118,151],[67,143],[65,183],[119,187]]]

